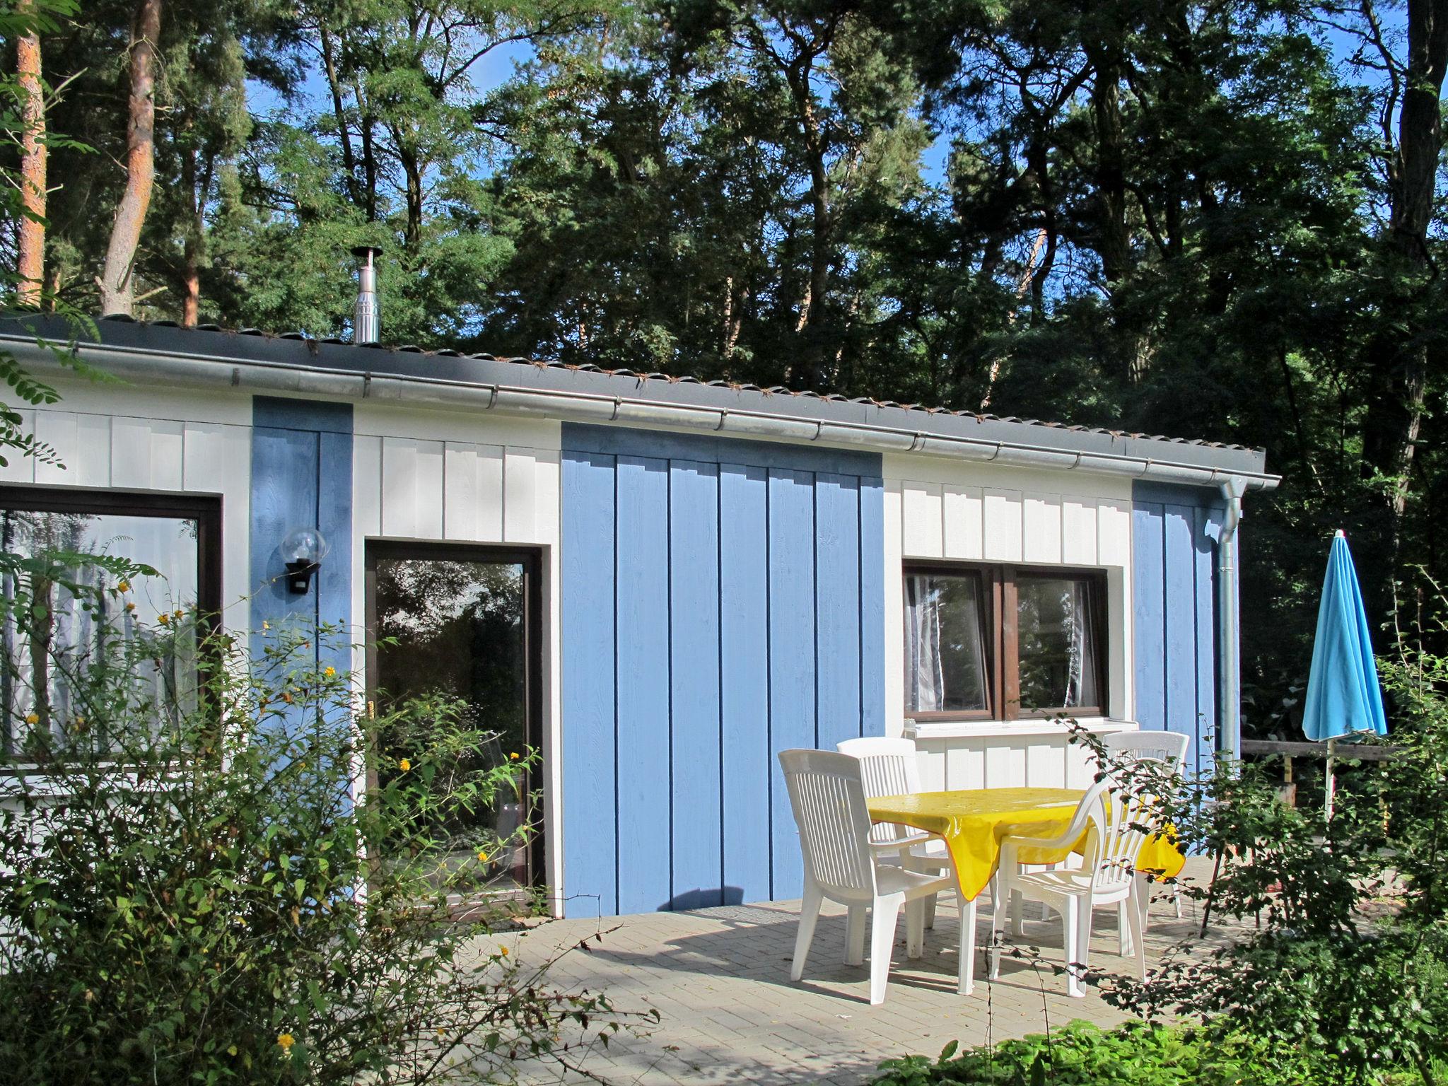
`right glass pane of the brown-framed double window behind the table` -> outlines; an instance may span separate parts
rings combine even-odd
[[[1100,705],[1096,597],[1087,578],[1016,581],[1022,710]]]

